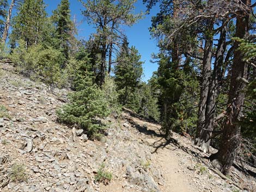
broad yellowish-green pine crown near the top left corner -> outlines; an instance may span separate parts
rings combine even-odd
[[[21,4],[13,18],[13,31],[10,35],[13,44],[24,40],[27,48],[43,40],[42,28],[47,15],[45,7],[43,0],[26,0]]]

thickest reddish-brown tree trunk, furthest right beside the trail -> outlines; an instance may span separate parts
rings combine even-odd
[[[243,0],[246,5],[251,4],[251,0]],[[247,11],[240,11],[236,17],[236,37],[246,38],[248,35],[249,14]],[[234,60],[231,69],[231,82],[228,95],[227,119],[223,129],[220,150],[212,154],[210,159],[223,174],[229,174],[237,150],[240,145],[240,125],[242,116],[243,100],[245,99],[245,83],[241,78],[247,77],[247,64],[242,60],[242,53],[239,49],[239,42],[235,42]]]

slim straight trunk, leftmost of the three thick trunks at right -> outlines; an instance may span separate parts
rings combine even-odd
[[[209,26],[208,31],[213,31],[213,23],[211,20],[207,22]],[[208,98],[210,78],[211,78],[211,57],[212,57],[212,42],[213,35],[206,35],[205,45],[204,45],[204,57],[202,66],[202,76],[200,81],[200,100],[198,105],[198,121],[197,121],[197,137],[195,144],[202,147],[203,151],[206,152],[208,147],[202,140],[200,135],[203,135],[204,123],[205,123],[205,112],[206,112],[206,102]]]

